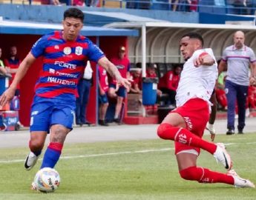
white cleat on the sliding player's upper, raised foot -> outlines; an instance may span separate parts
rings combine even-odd
[[[214,152],[214,158],[217,162],[223,164],[227,170],[230,170],[232,168],[232,160],[226,151],[225,145],[223,143],[217,143],[216,145],[217,149]]]

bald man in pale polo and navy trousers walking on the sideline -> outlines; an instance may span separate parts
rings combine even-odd
[[[245,36],[237,31],[233,36],[234,44],[223,51],[219,65],[219,74],[227,67],[226,97],[228,100],[228,131],[227,135],[234,134],[235,104],[238,107],[238,133],[243,133],[246,120],[246,98],[249,84],[255,84],[256,58],[250,47],[244,44]],[[251,76],[249,77],[249,67]]]

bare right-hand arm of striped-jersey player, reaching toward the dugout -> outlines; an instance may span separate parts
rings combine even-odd
[[[122,78],[119,70],[111,61],[109,61],[106,57],[102,57],[99,59],[98,64],[104,67],[105,70],[107,70],[107,72],[114,77],[114,79],[116,79],[117,83],[122,84],[126,89],[129,89],[131,83],[128,81],[128,79]]]

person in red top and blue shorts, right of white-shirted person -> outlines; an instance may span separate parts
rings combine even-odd
[[[103,67],[99,67],[99,125],[108,127],[105,116],[108,110],[108,74]]]

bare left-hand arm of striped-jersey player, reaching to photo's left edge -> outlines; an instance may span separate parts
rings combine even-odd
[[[26,58],[19,65],[19,68],[13,79],[12,84],[10,84],[10,87],[8,87],[8,89],[5,90],[4,93],[1,95],[0,106],[4,106],[5,104],[9,103],[11,99],[13,99],[17,85],[25,76],[25,74],[27,73],[27,70],[35,60],[36,58],[31,53],[27,54]]]

